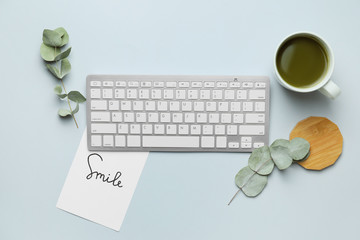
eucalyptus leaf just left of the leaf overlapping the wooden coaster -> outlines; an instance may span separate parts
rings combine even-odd
[[[271,157],[280,170],[287,169],[292,164],[289,152],[290,142],[286,139],[275,140],[270,146]]]

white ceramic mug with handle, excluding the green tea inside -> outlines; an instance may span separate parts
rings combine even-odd
[[[318,80],[318,83],[316,85],[313,85],[313,86],[310,86],[307,88],[294,87],[294,86],[288,84],[281,77],[281,75],[278,71],[277,65],[276,65],[276,57],[278,55],[279,49],[287,41],[289,41],[293,38],[296,38],[296,37],[307,37],[307,38],[314,39],[325,49],[327,56],[328,56],[328,66],[327,66],[326,73],[323,76],[321,76],[321,79]],[[333,73],[333,70],[334,70],[333,52],[332,52],[330,46],[321,37],[319,37],[318,35],[315,35],[313,33],[297,32],[297,33],[293,33],[293,34],[287,36],[283,41],[281,41],[281,43],[279,44],[279,46],[276,49],[275,58],[274,58],[274,68],[275,68],[275,75],[276,75],[279,83],[289,90],[292,90],[295,92],[301,92],[301,93],[307,93],[307,92],[313,92],[313,91],[319,90],[322,94],[324,94],[325,96],[327,96],[331,99],[335,99],[341,93],[340,88],[333,81],[330,80],[331,74]]]

